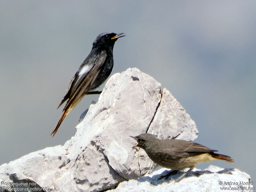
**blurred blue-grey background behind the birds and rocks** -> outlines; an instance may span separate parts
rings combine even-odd
[[[154,77],[196,122],[195,141],[236,161],[197,168],[238,168],[255,180],[255,10],[255,1],[1,1],[0,164],[73,136],[98,95],[52,138],[71,78],[98,34],[126,32],[112,74],[137,67]]]

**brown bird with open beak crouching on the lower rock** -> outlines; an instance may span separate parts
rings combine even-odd
[[[132,148],[143,148],[148,157],[156,164],[174,170],[175,173],[185,168],[190,168],[180,178],[175,180],[176,182],[183,179],[196,164],[201,162],[217,159],[225,160],[228,163],[234,162],[231,157],[214,153],[216,150],[212,150],[192,141],[177,139],[160,140],[155,135],[149,133],[144,133],[132,138],[137,141],[137,144]],[[173,172],[170,172],[170,174],[173,174]],[[169,176],[169,174],[167,176]]]

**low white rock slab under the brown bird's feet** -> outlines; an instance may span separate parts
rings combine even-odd
[[[253,191],[253,182],[250,175],[238,169],[223,169],[210,165],[204,171],[193,169],[185,178],[179,182],[174,180],[180,177],[183,172],[178,172],[165,180],[158,180],[168,173],[165,168],[153,171],[147,176],[138,180],[124,181],[116,189],[109,192],[145,192],[145,191],[172,191],[172,192],[219,192],[219,191]]]

